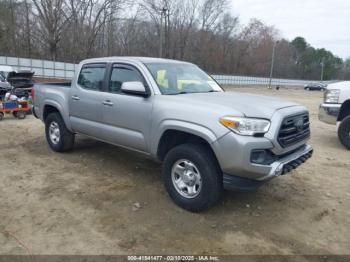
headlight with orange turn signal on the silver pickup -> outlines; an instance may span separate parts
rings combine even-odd
[[[220,123],[233,132],[243,136],[264,134],[269,131],[270,128],[270,121],[258,118],[225,116],[220,118]]]

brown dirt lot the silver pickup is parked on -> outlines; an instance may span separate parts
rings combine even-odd
[[[321,92],[240,88],[306,105],[315,154],[255,193],[200,214],[167,196],[160,166],[84,137],[53,153],[43,124],[0,122],[1,254],[350,254],[350,152],[317,120]],[[135,208],[135,203],[140,208]]]

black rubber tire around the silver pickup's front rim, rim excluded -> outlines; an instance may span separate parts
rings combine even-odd
[[[201,190],[194,198],[182,196],[172,180],[172,168],[182,159],[191,161],[202,179]],[[214,205],[223,191],[221,169],[212,151],[204,145],[182,144],[171,149],[164,159],[162,173],[169,196],[178,206],[191,212],[203,211]]]

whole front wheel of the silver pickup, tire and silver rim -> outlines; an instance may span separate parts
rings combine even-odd
[[[166,155],[162,173],[168,194],[186,210],[205,210],[221,196],[222,173],[215,156],[204,145],[176,146]]]

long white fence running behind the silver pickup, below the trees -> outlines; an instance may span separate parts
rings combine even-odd
[[[12,66],[14,70],[30,70],[35,72],[35,76],[43,78],[72,79],[76,64],[54,62],[48,60],[28,59],[18,57],[0,56],[0,65]],[[267,77],[251,76],[231,76],[231,75],[212,75],[218,83],[222,85],[268,85]],[[272,85],[280,86],[303,86],[311,80],[295,79],[272,79]],[[317,82],[317,81],[316,81]]]

